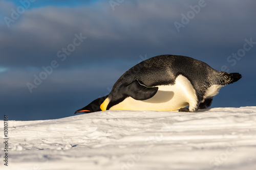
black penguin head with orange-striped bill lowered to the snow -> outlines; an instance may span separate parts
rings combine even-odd
[[[75,112],[75,114],[80,113],[80,112],[92,113],[92,112],[102,111],[101,108],[100,108],[100,105],[105,101],[106,98],[108,98],[108,95],[94,100],[93,102],[91,102],[86,107],[83,107],[83,108],[77,110]]]

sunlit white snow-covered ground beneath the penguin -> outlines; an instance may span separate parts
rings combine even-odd
[[[111,110],[51,120],[9,120],[9,162],[4,165],[1,142],[0,169],[254,170],[255,110]],[[4,120],[0,123],[4,127]]]

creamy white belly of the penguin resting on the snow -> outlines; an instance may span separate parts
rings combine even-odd
[[[157,93],[148,100],[138,101],[131,97],[110,110],[158,110],[171,111],[197,105],[196,91],[191,83],[184,77],[178,76],[174,85],[157,86]]]

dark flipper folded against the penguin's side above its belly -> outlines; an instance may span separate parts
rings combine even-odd
[[[135,100],[143,101],[152,98],[157,90],[158,87],[147,87],[141,81],[135,80],[125,87],[124,94]]]

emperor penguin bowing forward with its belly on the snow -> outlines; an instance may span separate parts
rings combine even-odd
[[[209,107],[221,87],[240,78],[237,72],[218,71],[190,57],[160,55],[127,70],[108,95],[75,113],[104,110],[195,112]]]

